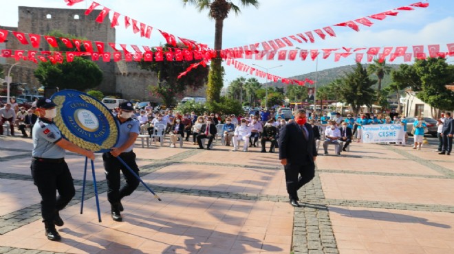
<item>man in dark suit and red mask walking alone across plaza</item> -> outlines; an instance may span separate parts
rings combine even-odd
[[[306,120],[305,110],[299,109],[294,121],[283,126],[279,133],[279,159],[284,166],[287,192],[293,207],[301,207],[298,189],[315,175],[317,150],[314,131]]]

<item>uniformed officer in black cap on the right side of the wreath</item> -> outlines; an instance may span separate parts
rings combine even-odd
[[[129,168],[136,174],[139,174],[139,168],[136,164],[136,154],[133,152],[134,143],[140,133],[140,124],[136,119],[132,119],[133,104],[131,102],[122,102],[118,108],[116,121],[120,126],[118,142],[110,152],[102,154],[104,168],[107,179],[107,199],[111,204],[111,216],[115,221],[122,221],[120,211],[123,211],[121,199],[131,195],[139,185],[139,180],[125,168],[116,157],[125,161]],[[120,171],[126,179],[126,185],[120,189]]]

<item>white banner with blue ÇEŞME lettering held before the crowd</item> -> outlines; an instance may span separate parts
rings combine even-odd
[[[401,124],[378,124],[362,126],[363,143],[403,142],[404,126]]]

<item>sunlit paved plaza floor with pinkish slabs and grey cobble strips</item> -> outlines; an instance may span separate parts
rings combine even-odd
[[[454,253],[454,156],[435,146],[352,143],[341,157],[319,156],[301,208],[288,203],[277,153],[231,148],[137,141],[140,176],[162,202],[140,185],[122,201],[123,222],[110,217],[100,154],[102,222],[91,168],[80,214],[85,158],[67,153],[76,197],[61,212],[61,242],[51,242],[30,176],[32,140],[0,136],[0,253]]]

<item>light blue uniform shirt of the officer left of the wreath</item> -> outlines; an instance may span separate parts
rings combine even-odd
[[[61,132],[54,122],[40,118],[33,126],[32,157],[45,159],[61,159],[65,157],[65,149],[55,143],[62,139]]]

